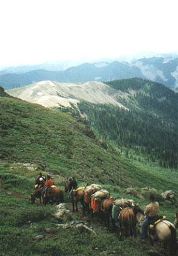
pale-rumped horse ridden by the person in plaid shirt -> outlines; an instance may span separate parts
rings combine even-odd
[[[138,211],[137,209],[134,209],[134,211],[136,214],[138,227],[141,232],[141,225],[145,216],[142,210],[142,212]],[[170,221],[162,220],[158,222],[156,225],[154,225],[153,231],[148,230],[148,236],[150,237],[152,245],[154,245],[154,241],[159,240],[163,243],[164,248],[169,247],[170,256],[177,255],[176,228]]]

